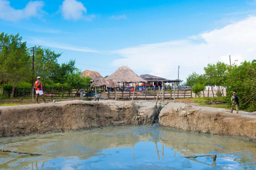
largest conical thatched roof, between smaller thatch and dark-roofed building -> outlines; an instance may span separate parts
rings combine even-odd
[[[135,74],[129,67],[119,67],[113,74],[108,76],[106,80],[114,80],[116,82],[147,82]]]

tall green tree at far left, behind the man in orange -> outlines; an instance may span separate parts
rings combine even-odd
[[[12,83],[11,98],[17,84],[22,81],[29,81],[31,76],[31,58],[19,34],[0,34],[0,81]]]

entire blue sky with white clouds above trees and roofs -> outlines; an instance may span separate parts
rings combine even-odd
[[[0,32],[62,53],[60,63],[75,59],[81,71],[127,65],[176,79],[180,65],[184,80],[228,55],[256,58],[255,14],[255,0],[0,0]]]

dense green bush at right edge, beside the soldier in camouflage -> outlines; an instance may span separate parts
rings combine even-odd
[[[239,97],[239,108],[246,111],[256,110],[256,60],[244,61],[239,66],[229,66],[227,80],[227,101],[235,91]]]

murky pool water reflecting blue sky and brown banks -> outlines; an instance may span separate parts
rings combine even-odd
[[[41,153],[0,152],[0,168],[187,169],[256,167],[256,143],[228,136],[202,135],[159,126],[122,126],[79,132],[0,138],[0,148]],[[132,148],[132,149],[131,149]],[[160,152],[160,153],[159,153]],[[196,159],[185,155],[220,154]]]

